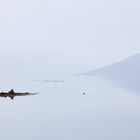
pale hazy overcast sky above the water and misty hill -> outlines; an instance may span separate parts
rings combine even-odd
[[[138,53],[139,7],[138,0],[2,0],[0,63],[76,73]]]

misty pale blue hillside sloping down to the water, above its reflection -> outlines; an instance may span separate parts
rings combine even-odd
[[[84,75],[140,75],[140,54]]]

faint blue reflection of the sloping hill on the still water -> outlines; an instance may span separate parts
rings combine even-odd
[[[133,92],[140,92],[140,75],[109,76],[108,79],[116,86]]]

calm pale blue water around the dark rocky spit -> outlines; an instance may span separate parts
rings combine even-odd
[[[138,77],[75,76],[65,82],[0,83],[3,90],[12,86],[16,91],[40,93],[13,101],[0,98],[0,138],[139,140],[139,81]]]

